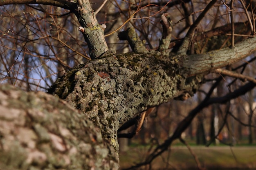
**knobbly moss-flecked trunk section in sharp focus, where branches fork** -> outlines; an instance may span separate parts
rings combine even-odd
[[[85,113],[117,152],[119,126],[148,107],[185,92],[193,95],[200,82],[195,77],[188,81],[175,57],[160,53],[106,56],[73,68],[49,93]]]

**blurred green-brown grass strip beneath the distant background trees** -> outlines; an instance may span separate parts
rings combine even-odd
[[[249,168],[256,170],[256,146],[191,146],[202,167],[222,170]],[[147,146],[130,147],[120,153],[120,168],[128,168],[144,160],[148,155]],[[152,163],[153,170],[182,170],[196,168],[195,159],[186,146],[172,146],[171,149]]]

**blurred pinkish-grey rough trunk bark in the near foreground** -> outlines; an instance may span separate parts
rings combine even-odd
[[[87,115],[46,93],[0,86],[1,170],[112,170],[118,155]]]

